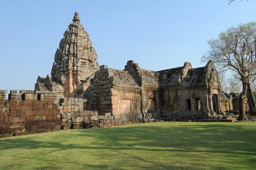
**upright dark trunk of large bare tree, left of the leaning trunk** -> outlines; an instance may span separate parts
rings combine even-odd
[[[242,95],[239,97],[239,121],[247,121],[247,116],[245,114],[245,109],[244,109],[244,103],[246,99],[246,94],[247,94],[247,83],[244,80],[245,78],[242,78],[242,84],[243,84],[243,90],[242,90]]]

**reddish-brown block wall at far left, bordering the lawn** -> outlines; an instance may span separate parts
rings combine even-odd
[[[60,130],[61,123],[57,101],[0,101],[0,138]]]

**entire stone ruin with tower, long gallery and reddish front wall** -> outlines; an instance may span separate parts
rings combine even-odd
[[[51,77],[39,76],[35,90],[11,90],[8,100],[7,90],[0,90],[0,137],[163,120],[234,121],[222,112],[234,97],[232,103],[221,92],[212,61],[194,69],[185,62],[151,71],[132,60],[124,70],[96,60],[76,12],[55,53]]]

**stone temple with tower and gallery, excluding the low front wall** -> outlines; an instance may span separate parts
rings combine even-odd
[[[96,50],[76,12],[55,53],[51,77],[38,77],[35,90],[60,98],[86,98],[98,113],[204,112],[221,114],[218,74],[212,61],[205,67],[184,66],[162,71],[141,69],[128,61],[124,70],[99,66]]]

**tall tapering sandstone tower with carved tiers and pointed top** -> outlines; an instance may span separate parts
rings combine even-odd
[[[55,91],[60,97],[81,95],[89,88],[90,79],[99,69],[96,60],[97,53],[76,12],[55,53],[51,83],[42,84],[46,79],[38,77],[35,89]]]

